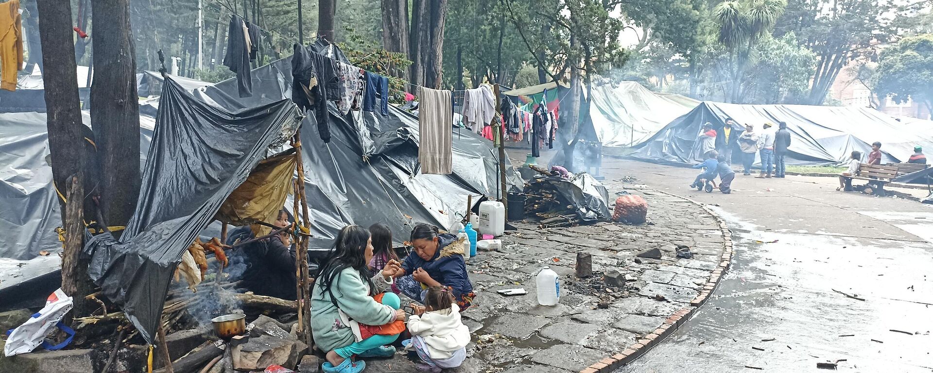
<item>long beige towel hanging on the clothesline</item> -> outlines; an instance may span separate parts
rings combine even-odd
[[[421,162],[421,173],[450,174],[453,172],[453,95],[450,90],[422,87],[419,98],[418,161]]]

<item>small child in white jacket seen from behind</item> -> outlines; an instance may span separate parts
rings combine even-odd
[[[406,323],[411,339],[402,341],[402,345],[424,362],[416,366],[418,371],[438,373],[441,368],[463,364],[469,329],[460,320],[460,308],[451,290],[430,287],[425,294],[425,307],[412,303],[411,308],[415,314]]]

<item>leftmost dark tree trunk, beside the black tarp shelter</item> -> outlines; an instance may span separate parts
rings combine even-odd
[[[80,183],[84,181],[77,180],[79,185],[76,189],[72,189],[72,178],[82,173],[84,159],[87,157],[85,153],[87,142],[83,141],[83,138],[90,134],[90,130],[81,122],[81,109],[77,95],[75,44],[72,38],[74,31],[71,28],[71,5],[58,0],[36,0],[36,8],[40,17],[38,23],[42,63],[45,66],[55,66],[42,71],[42,77],[46,83],[45,98],[52,179],[63,194],[67,193],[67,190],[76,190],[74,198],[78,199],[77,196],[83,195]],[[136,167],[139,167],[138,162]],[[83,198],[80,200],[85,201]],[[76,258],[80,260],[81,249],[80,243],[74,244],[75,238],[78,237],[77,240],[80,240],[84,233],[81,229],[84,226],[81,221],[82,216],[79,214],[81,209],[77,208],[76,212],[76,206],[73,205],[70,210],[76,215],[69,215],[69,209],[64,206],[63,200],[59,202],[62,204],[63,227],[69,225],[78,227],[66,230],[65,233],[65,242],[72,243],[65,246],[63,254],[66,258],[63,261],[63,284],[68,285],[65,292],[75,297],[74,314],[89,315],[91,310],[84,297],[91,294],[89,291],[91,279],[87,276],[86,263],[82,266],[80,262],[74,260]],[[87,211],[87,209],[84,210]]]

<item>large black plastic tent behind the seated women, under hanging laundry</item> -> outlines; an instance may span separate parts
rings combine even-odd
[[[340,58],[339,49],[332,51]],[[236,82],[227,80],[194,91],[204,102],[235,110],[291,97],[291,62],[272,62],[252,73],[253,97],[240,98]],[[261,82],[261,84],[260,84]],[[329,250],[341,228],[384,223],[396,243],[408,241],[411,228],[431,223],[450,228],[466,214],[473,195],[499,196],[498,150],[466,130],[453,131],[453,173],[418,171],[417,117],[389,105],[388,116],[351,111],[342,116],[333,104],[331,141],[318,137],[317,120],[309,112],[301,128],[305,193],[311,214],[312,250]],[[508,188],[522,186],[507,162]],[[293,202],[285,203],[287,209]]]

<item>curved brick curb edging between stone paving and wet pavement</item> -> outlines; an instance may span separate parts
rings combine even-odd
[[[689,308],[683,308],[680,311],[676,311],[674,314],[664,320],[664,323],[658,326],[658,328],[656,328],[653,332],[649,333],[647,336],[645,336],[645,338],[638,339],[625,351],[613,354],[609,357],[606,357],[605,359],[593,363],[583,370],[580,370],[579,373],[610,373],[633,362],[642,354],[648,352],[648,350],[651,350],[652,347],[657,346],[658,343],[661,343],[661,340],[664,340],[673,334],[674,331],[680,327],[680,325],[683,325],[684,322],[689,320],[689,318],[692,317],[693,314],[699,310],[703,304],[706,303],[706,300],[708,300],[710,295],[713,294],[713,291],[716,290],[716,287],[719,284],[719,280],[722,279],[722,275],[725,274],[731,266],[733,255],[731,238],[732,231],[726,225],[726,220],[723,219],[722,216],[719,216],[719,214],[716,214],[713,210],[706,207],[706,205],[696,200],[690,200],[687,197],[678,196],[676,194],[668,193],[658,189],[651,189],[651,191],[663,193],[668,196],[680,198],[682,200],[688,200],[690,203],[700,206],[700,208],[702,208],[706,214],[710,214],[713,216],[713,218],[716,219],[723,240],[723,252],[722,256],[720,256],[719,265],[716,269],[713,269],[712,273],[710,273],[709,279],[706,280],[706,283],[703,284],[703,287],[700,290],[700,294],[698,294],[697,297],[694,297],[693,300],[690,301]]]

